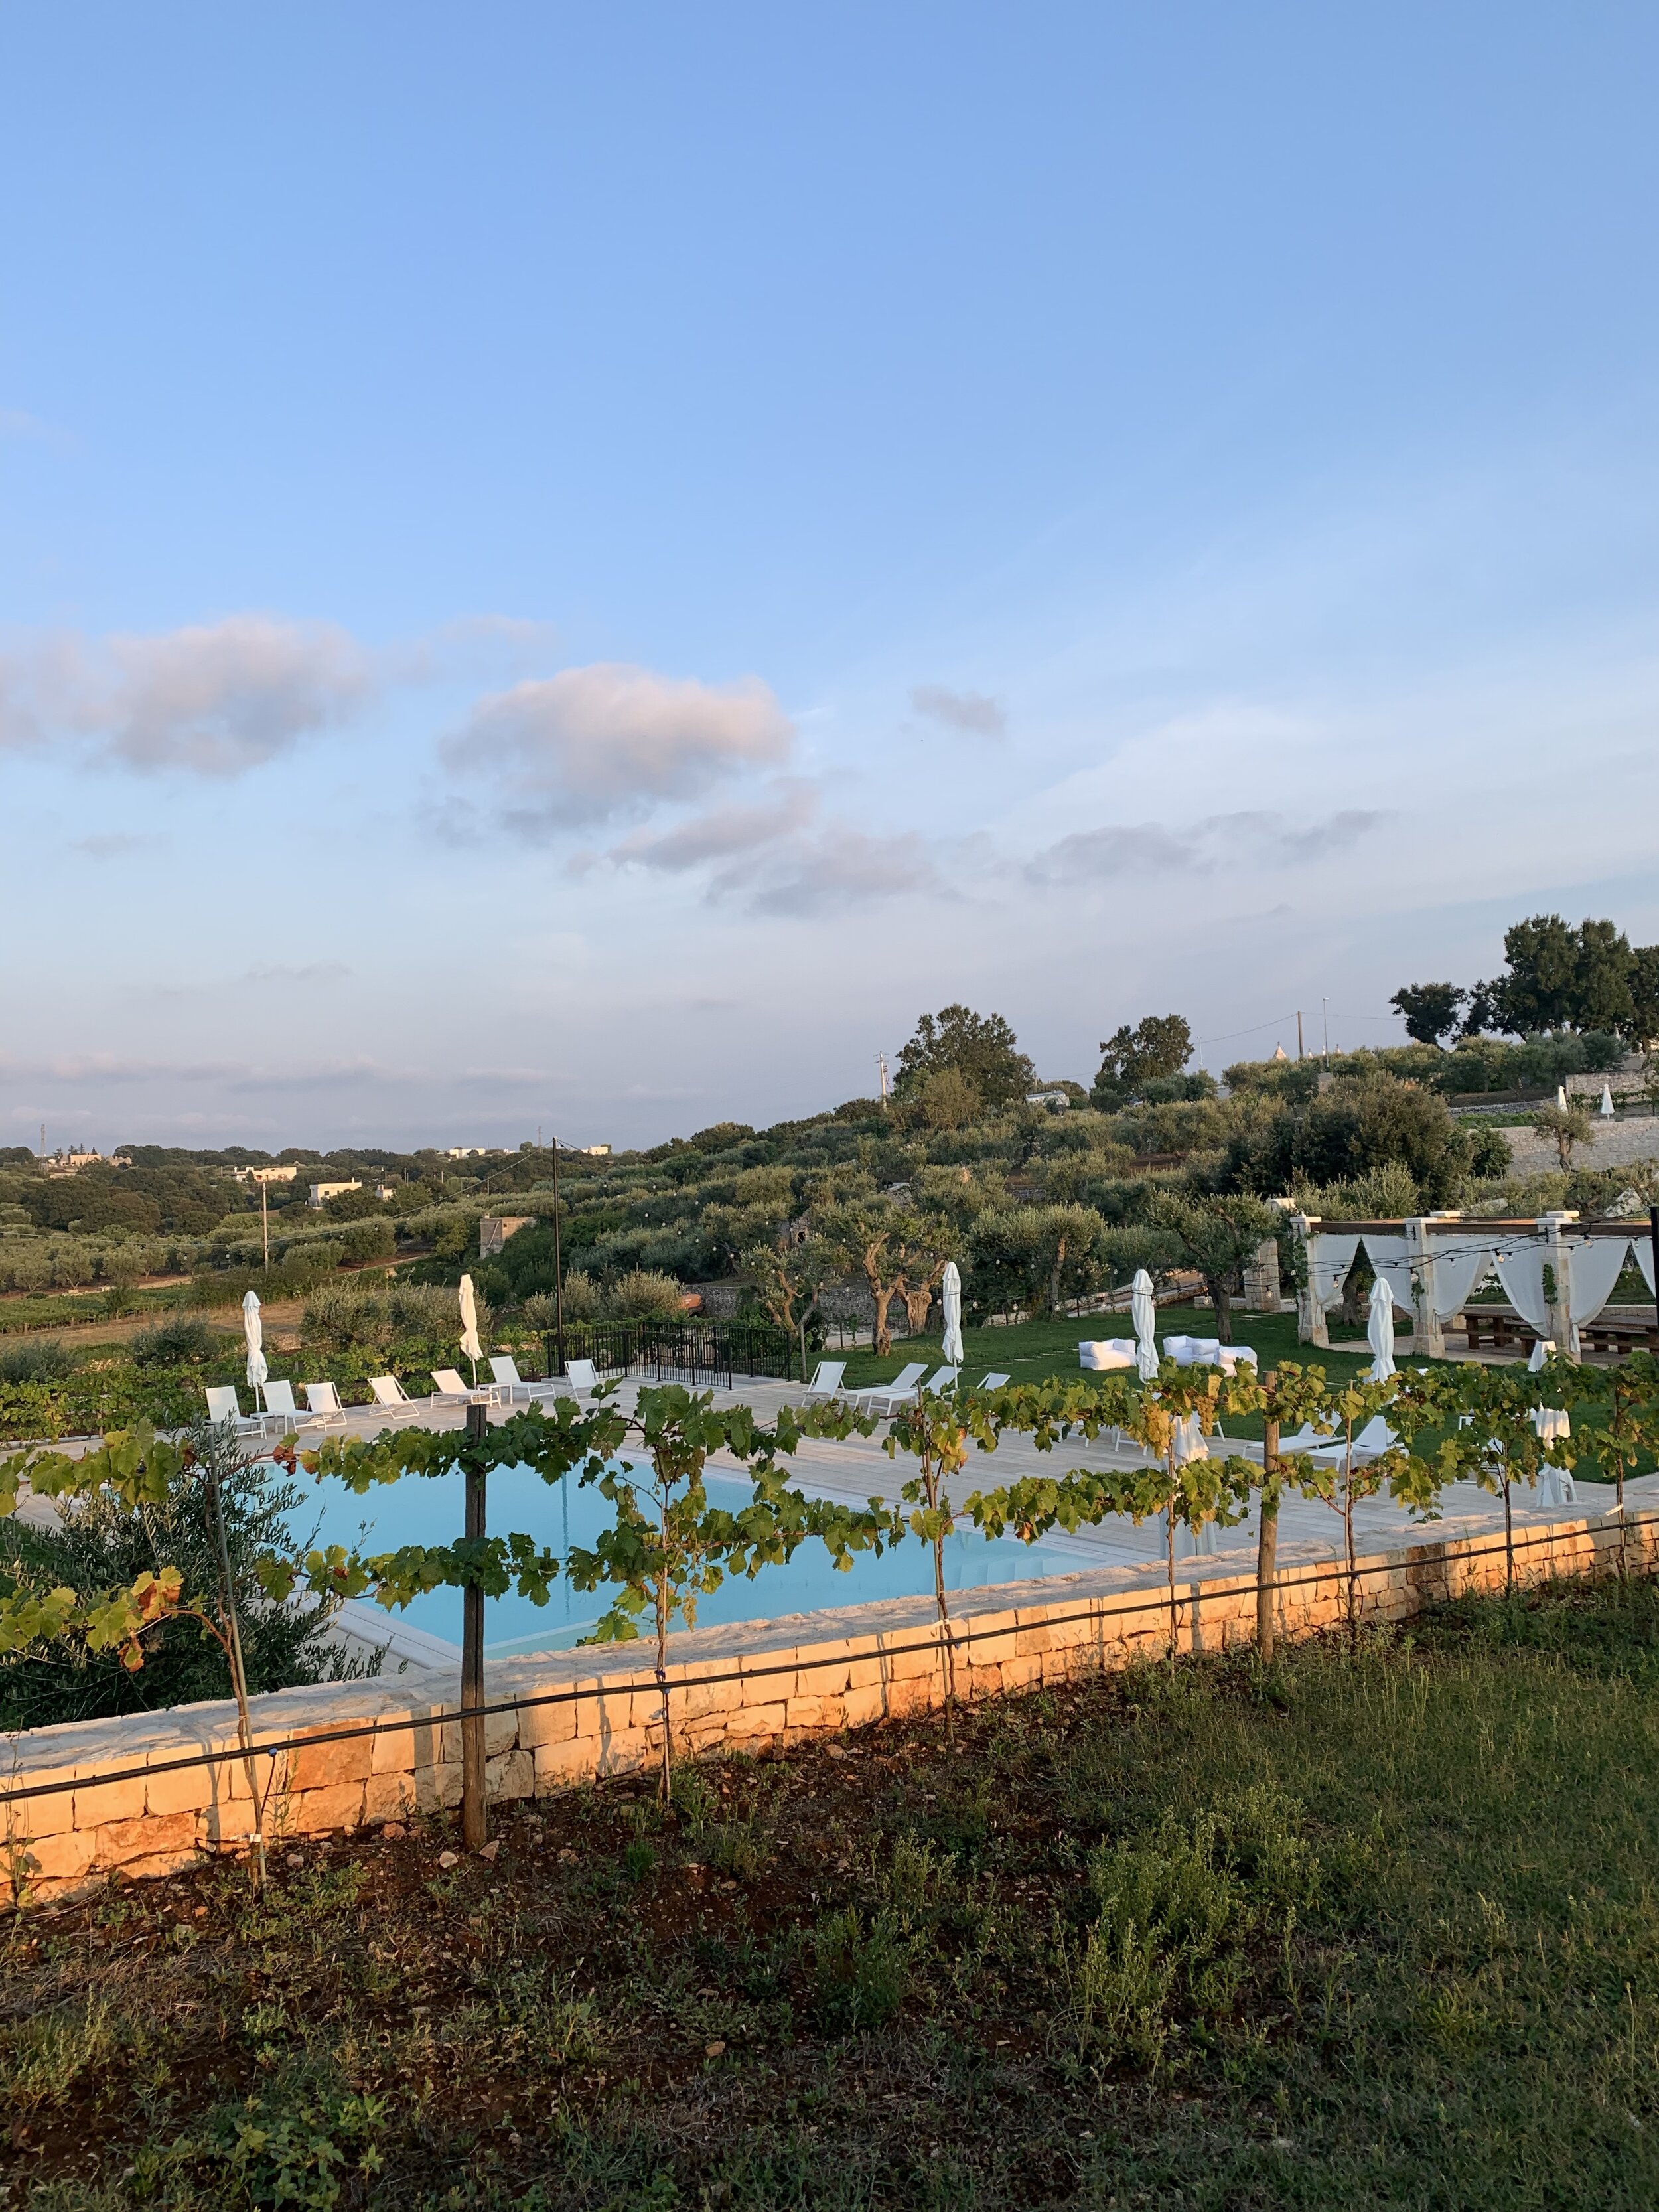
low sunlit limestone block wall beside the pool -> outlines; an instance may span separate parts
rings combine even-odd
[[[1615,1515],[1546,1520],[1517,1513],[1515,1564],[1526,1582],[1630,1571],[1659,1562],[1659,1515],[1621,1528]],[[1407,1544],[1358,1562],[1365,1621],[1400,1621],[1427,1604],[1504,1584],[1491,1533]],[[1175,1644],[1225,1650],[1256,1632],[1254,1575],[1232,1559],[1179,1566]],[[967,1590],[951,1617],[962,1699],[1068,1681],[1170,1648],[1161,1568],[1104,1568],[1048,1582]],[[1347,1568],[1283,1564],[1285,1639],[1347,1619]],[[681,1756],[759,1752],[803,1736],[938,1708],[945,1668],[927,1599],[706,1628],[670,1639],[668,1721]],[[661,1756],[661,1699],[646,1646],[513,1659],[487,1670],[489,1794],[546,1796],[575,1781],[628,1774]],[[460,1803],[460,1683],[409,1668],[387,1681],[281,1690],[254,1699],[254,1785],[274,1838],[316,1836]],[[206,1756],[201,1756],[206,1754]],[[195,1761],[195,1763],[181,1763]],[[44,1785],[44,1787],[42,1787]],[[7,1792],[29,1792],[9,1796]],[[84,1893],[111,1876],[175,1874],[204,1854],[246,1851],[252,1792],[234,1705],[184,1705],[122,1721],[82,1721],[0,1741],[0,1907]]]

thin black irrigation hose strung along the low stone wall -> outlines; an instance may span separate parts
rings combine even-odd
[[[1621,1537],[1639,1528],[1652,1528],[1652,1526],[1659,1526],[1659,1513],[1619,1515]],[[1407,1557],[1405,1564],[1433,1568],[1433,1566],[1462,1566],[1469,1559],[1491,1559],[1500,1557],[1502,1553],[1509,1553],[1509,1557],[1520,1557],[1522,1553],[1555,1544],[1559,1528],[1562,1524],[1555,1522],[1548,1528],[1520,1531],[1515,1537],[1493,1537],[1491,1542],[1469,1544],[1453,1557],[1447,1557],[1444,1553],[1438,1555],[1429,1544],[1411,1546],[1413,1551],[1420,1551],[1425,1557],[1416,1562]],[[1624,1551],[1626,1546],[1621,1544],[1619,1557],[1624,1557]],[[1391,1557],[1371,1559],[1369,1564],[1356,1562],[1354,1571],[1349,1573],[1347,1559],[1332,1557],[1332,1559],[1321,1559],[1294,1573],[1274,1575],[1270,1584],[1237,1582],[1230,1575],[1208,1577],[1214,1584],[1223,1584],[1212,1590],[1206,1590],[1206,1579],[1201,1577],[1177,1579],[1175,1584],[1177,1621],[1179,1615],[1186,1613],[1190,1617],[1190,1624],[1197,1628],[1206,1599],[1228,1599],[1237,1604],[1239,1599],[1245,1597],[1259,1597],[1263,1588],[1270,1590],[1274,1597],[1283,1597],[1290,1590],[1318,1588],[1321,1584],[1327,1584],[1332,1579],[1349,1586],[1349,1604],[1352,1604],[1360,1584],[1383,1575],[1394,1575],[1400,1564],[1402,1564],[1400,1555],[1396,1553]],[[1493,1595],[1493,1593],[1482,1593],[1482,1595]],[[1088,1604],[1084,1604],[1077,1613],[1057,1613],[1040,1624],[1026,1624],[1026,1626],[1075,1628],[1086,1621],[1139,1619],[1146,1613],[1161,1613],[1164,1617],[1168,1617],[1170,1613],[1168,1588],[1159,1588],[1155,1595],[1148,1595],[1135,1604],[1119,1604],[1115,1599],[1115,1593],[1095,1597]],[[779,1674],[814,1674],[827,1668],[845,1668],[849,1659],[898,1661],[898,1659],[911,1659],[918,1652],[933,1652],[933,1655],[947,1650],[960,1652],[969,1644],[987,1644],[993,1639],[1006,1639],[1011,1635],[1015,1635],[1015,1630],[1009,1628],[1006,1624],[998,1628],[967,1628],[967,1626],[951,1628],[947,1624],[942,1635],[920,1637],[918,1641],[909,1644],[887,1644],[874,1652],[847,1652],[845,1644],[841,1644],[834,1652],[825,1652],[823,1659],[790,1657],[765,1666],[754,1666],[743,1655],[737,1655],[730,1666],[719,1668],[717,1672],[672,1677],[668,1681],[668,1694],[672,1697],[679,1690],[714,1690],[714,1688],[726,1688],[730,1683],[765,1681]],[[650,1681],[650,1677],[646,1677],[646,1681]],[[414,1714],[411,1719],[358,1721],[349,1728],[316,1730],[303,1736],[283,1736],[274,1743],[254,1743],[250,1750],[243,1750],[243,1745],[237,1743],[217,1752],[188,1752],[181,1759],[157,1759],[146,1765],[119,1767],[111,1774],[71,1774],[64,1781],[24,1783],[20,1787],[0,1790],[0,1805],[20,1805],[27,1798],[40,1798],[40,1796],[62,1796],[64,1790],[104,1790],[113,1787],[115,1783],[146,1781],[148,1776],[155,1774],[186,1774],[192,1767],[221,1767],[241,1763],[246,1759],[276,1761],[296,1752],[314,1752],[325,1743],[361,1743],[363,1739],[407,1736],[420,1730],[458,1728],[462,1721],[487,1721],[504,1712],[538,1712],[549,1705],[580,1705],[584,1699],[633,1697],[639,1692],[639,1688],[641,1688],[641,1677],[637,1672],[617,1679],[604,1679],[604,1677],[584,1679],[580,1683],[573,1683],[568,1690],[542,1690],[535,1697],[507,1697],[487,1705],[453,1705],[440,1712]],[[18,1739],[13,1739],[13,1756],[15,1756],[15,1745]]]

